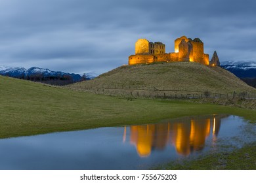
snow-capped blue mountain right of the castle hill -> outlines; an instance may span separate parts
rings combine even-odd
[[[223,61],[221,67],[238,78],[256,78],[256,61]]]

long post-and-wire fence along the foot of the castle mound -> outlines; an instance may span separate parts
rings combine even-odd
[[[185,88],[156,88],[156,87],[108,87],[108,86],[75,86],[75,90],[92,92],[105,95],[121,95],[131,97],[152,97],[166,99],[203,99],[203,98],[226,98],[226,99],[256,99],[256,93],[249,92],[209,92],[207,90],[200,91],[187,90]]]

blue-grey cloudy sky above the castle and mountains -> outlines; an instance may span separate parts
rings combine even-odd
[[[255,0],[0,0],[0,65],[103,73],[139,38],[186,35],[221,61],[256,61]]]

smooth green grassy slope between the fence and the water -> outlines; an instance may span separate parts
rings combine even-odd
[[[255,110],[160,99],[129,101],[0,76],[0,138],[213,113],[256,120]]]

